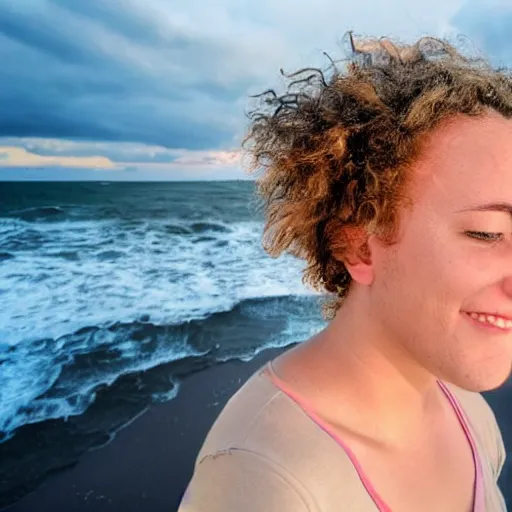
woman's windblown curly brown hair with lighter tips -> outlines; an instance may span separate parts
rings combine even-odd
[[[330,292],[330,320],[347,297],[350,254],[364,256],[368,234],[396,242],[407,184],[422,142],[439,123],[490,109],[512,117],[512,76],[484,58],[462,55],[442,39],[413,45],[355,41],[332,73],[286,75],[286,92],[267,90],[242,148],[250,156],[265,211],[263,247],[307,262],[303,282]],[[346,36],[347,36],[346,34]]]

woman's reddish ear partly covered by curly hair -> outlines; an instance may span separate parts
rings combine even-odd
[[[354,281],[370,285],[374,279],[374,268],[370,250],[370,236],[364,228],[346,228],[349,240],[348,254],[343,258],[345,267]]]

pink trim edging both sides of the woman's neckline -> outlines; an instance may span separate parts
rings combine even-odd
[[[309,418],[311,418],[322,430],[324,430],[329,436],[331,436],[345,451],[350,462],[354,466],[361,483],[363,484],[366,492],[373,500],[375,505],[377,506],[380,512],[392,512],[391,508],[387,503],[381,498],[379,493],[375,490],[375,487],[371,483],[370,479],[366,476],[363,471],[363,468],[357,458],[355,457],[352,450],[345,444],[345,442],[340,438],[336,432],[332,430],[332,428],[328,425],[327,422],[322,420],[315,412],[314,408],[311,404],[308,403],[303,397],[301,397],[298,393],[293,391],[284,381],[282,381],[277,374],[275,373],[272,367],[272,361],[269,361],[267,364],[268,375],[272,382],[289,398],[291,398],[305,413]],[[471,432],[466,424],[464,419],[464,415],[462,409],[455,398],[455,396],[451,393],[451,391],[441,382],[437,381],[444,394],[447,396],[452,408],[454,409],[459,423],[461,424],[464,433],[469,441],[471,446],[471,452],[473,454],[473,461],[475,464],[475,485],[474,485],[474,500],[473,500],[473,512],[485,512],[485,503],[484,503],[484,492],[483,492],[483,477],[482,477],[482,468],[480,463],[480,457],[478,456],[478,450],[476,448],[476,444],[471,436]]]

